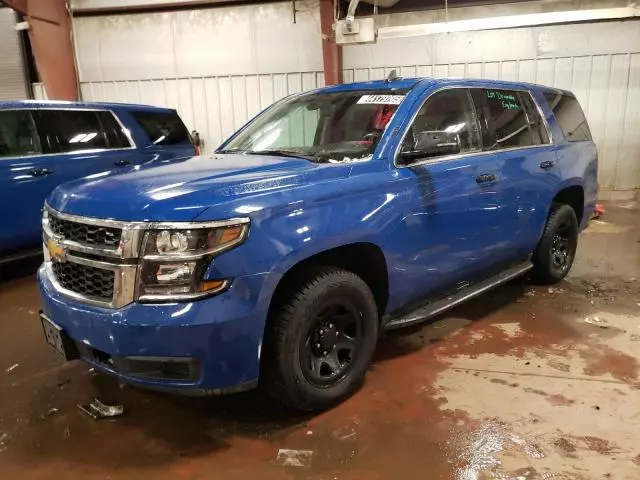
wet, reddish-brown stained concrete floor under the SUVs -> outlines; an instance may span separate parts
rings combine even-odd
[[[569,280],[517,281],[381,339],[362,390],[319,415],[287,412],[258,392],[188,399],[120,389],[63,364],[44,344],[33,275],[5,269],[0,477],[638,479],[634,208],[609,206],[592,223]],[[84,416],[77,404],[95,396],[124,404],[125,415]],[[280,449],[307,452],[291,466]]]

